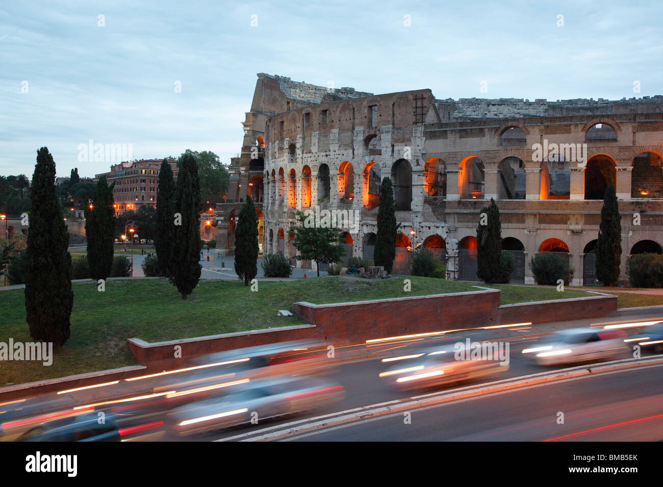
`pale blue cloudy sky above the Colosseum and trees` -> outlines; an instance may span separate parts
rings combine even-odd
[[[373,93],[430,88],[443,99],[663,94],[662,5],[5,1],[0,174],[31,177],[44,145],[58,176],[105,172],[107,162],[77,160],[90,139],[133,144],[139,159],[192,148],[229,164],[259,72]]]

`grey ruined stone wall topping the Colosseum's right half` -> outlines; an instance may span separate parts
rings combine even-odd
[[[481,119],[518,119],[523,117],[571,117],[573,115],[624,115],[631,113],[660,113],[663,96],[623,98],[611,101],[603,98],[529,101],[517,98],[451,98],[436,99],[440,121],[459,122]]]

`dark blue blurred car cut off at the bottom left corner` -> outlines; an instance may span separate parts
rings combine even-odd
[[[120,429],[112,419],[99,424],[96,413],[47,421],[30,428],[14,441],[121,441]]]

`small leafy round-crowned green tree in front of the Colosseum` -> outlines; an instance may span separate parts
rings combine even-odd
[[[316,227],[312,217],[307,217],[303,211],[295,212],[298,226],[291,227],[289,235],[294,236],[292,244],[297,249],[297,260],[315,260],[318,263],[318,277],[320,277],[320,264],[338,262],[345,255],[345,248],[339,245],[338,229],[333,227]]]

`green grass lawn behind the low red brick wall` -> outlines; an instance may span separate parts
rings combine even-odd
[[[403,279],[412,291],[403,291]],[[502,291],[501,303],[592,296],[583,291],[491,286]],[[477,291],[473,284],[413,276],[364,280],[326,276],[284,282],[262,281],[259,290],[243,283],[204,281],[184,301],[164,280],[107,281],[105,292],[96,284],[75,284],[71,338],[54,351],[51,366],[40,362],[0,362],[0,386],[135,365],[127,339],[165,341],[236,331],[301,324],[296,317],[278,317],[296,301],[324,304],[426,294]],[[23,290],[2,291],[0,341],[32,341],[25,322]]]

